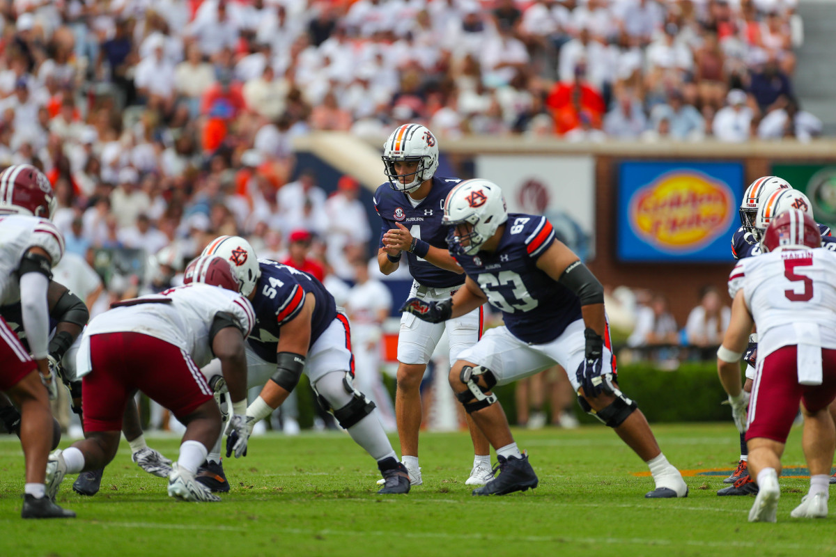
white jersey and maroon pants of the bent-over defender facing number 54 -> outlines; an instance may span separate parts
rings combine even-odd
[[[137,302],[105,311],[84,331],[77,356],[84,431],[119,431],[137,389],[185,417],[212,399],[200,367],[213,357],[215,317],[230,316],[245,338],[255,325],[247,298],[220,286],[191,283]]]

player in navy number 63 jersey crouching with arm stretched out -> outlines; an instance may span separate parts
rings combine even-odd
[[[569,370],[584,410],[614,428],[647,463],[656,487],[645,497],[686,497],[688,487],[660,451],[644,414],[615,382],[604,288],[555,239],[546,217],[508,215],[499,186],[466,180],[447,196],[444,222],[451,226],[450,251],[467,274],[465,286],[444,301],[411,298],[405,311],[442,322],[488,301],[505,322],[462,352],[449,377],[456,398],[497,450],[499,475],[473,494],[537,487],[492,388],[557,363]]]

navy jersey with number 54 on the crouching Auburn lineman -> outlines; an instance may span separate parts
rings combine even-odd
[[[305,302],[305,294],[314,295],[316,305],[311,316],[311,342],[316,342],[337,316],[334,296],[322,283],[304,271],[298,271],[269,259],[259,259],[262,276],[252,299],[256,312],[256,326],[247,338],[252,349],[267,362],[276,362],[276,346],[282,326],[293,320]]]

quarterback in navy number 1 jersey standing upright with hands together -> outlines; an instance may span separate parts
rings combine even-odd
[[[410,297],[441,301],[461,288],[461,267],[447,252],[447,227],[441,222],[444,199],[458,185],[458,178],[439,178],[436,136],[420,124],[404,124],[383,146],[385,175],[389,178],[375,192],[375,210],[383,225],[377,262],[390,275],[406,253],[414,279]],[[421,485],[418,464],[418,432],[421,429],[421,378],[441,335],[450,340],[450,361],[482,337],[482,306],[456,316],[449,323],[422,322],[408,313],[400,318],[395,418],[398,423],[401,460],[410,483]],[[493,478],[487,439],[468,417],[473,440],[473,467],[467,485],[482,485]]]

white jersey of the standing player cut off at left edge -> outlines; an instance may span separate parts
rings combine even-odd
[[[47,219],[28,215],[0,215],[0,306],[20,300],[15,271],[29,248],[43,248],[53,266],[64,256],[64,236]]]

